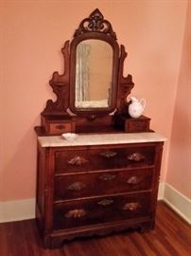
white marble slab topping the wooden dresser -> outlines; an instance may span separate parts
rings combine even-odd
[[[67,141],[61,136],[38,137],[42,147],[68,147],[86,145],[127,144],[141,142],[159,142],[166,138],[157,133],[136,134],[79,134],[75,141]]]

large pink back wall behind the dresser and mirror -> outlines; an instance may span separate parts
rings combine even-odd
[[[2,201],[35,196],[33,127],[40,124],[45,101],[54,98],[48,81],[53,71],[62,70],[61,46],[96,8],[129,52],[125,73],[133,75],[133,94],[147,99],[152,128],[168,137],[165,180],[187,1],[7,0],[0,4]]]

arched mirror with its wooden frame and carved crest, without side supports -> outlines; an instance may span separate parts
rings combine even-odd
[[[112,25],[96,9],[83,19],[70,44],[69,109],[107,115],[117,105],[119,46]]]

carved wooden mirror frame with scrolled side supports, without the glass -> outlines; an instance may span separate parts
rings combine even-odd
[[[113,48],[113,97],[112,104],[108,108],[77,109],[75,107],[76,50],[78,44],[86,39],[101,40]],[[61,52],[64,57],[64,71],[61,75],[54,72],[49,82],[57,100],[48,100],[42,115],[69,117],[72,113],[74,116],[93,114],[103,116],[113,111],[123,114],[127,108],[126,98],[134,83],[130,75],[123,76],[124,61],[127,57],[125,47],[117,44],[111,23],[104,19],[99,9],[95,9],[88,18],[81,21],[72,42],[66,41]]]

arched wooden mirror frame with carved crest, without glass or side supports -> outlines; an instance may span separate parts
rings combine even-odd
[[[86,26],[85,26],[86,24]],[[103,41],[109,44],[113,49],[113,67],[112,67],[112,104],[109,107],[101,108],[77,108],[75,106],[75,86],[76,86],[76,62],[77,46],[81,42],[93,39]],[[97,114],[111,113],[116,108],[116,93],[118,80],[118,59],[119,46],[116,43],[116,34],[113,32],[112,25],[104,20],[101,12],[96,9],[89,18],[84,19],[75,32],[74,39],[70,47],[70,109],[76,114]]]

